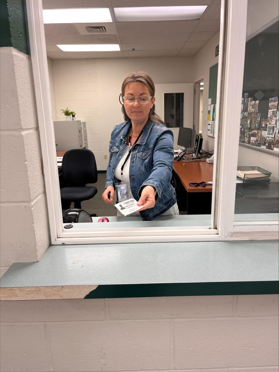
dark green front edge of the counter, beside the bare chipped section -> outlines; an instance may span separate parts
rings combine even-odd
[[[99,285],[84,298],[278,294],[278,281]]]

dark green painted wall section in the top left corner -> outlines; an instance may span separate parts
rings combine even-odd
[[[29,54],[24,0],[0,0],[0,47]]]

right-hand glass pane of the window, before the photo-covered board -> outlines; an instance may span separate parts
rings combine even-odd
[[[270,14],[266,25],[256,23],[264,11],[262,5],[248,2],[247,9],[236,171],[237,222],[278,220],[278,21],[270,22],[274,18]]]

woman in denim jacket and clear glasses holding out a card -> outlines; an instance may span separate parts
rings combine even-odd
[[[104,201],[113,203],[117,185],[126,187],[127,199],[134,198],[142,206],[133,215],[141,215],[143,221],[179,214],[170,183],[173,134],[155,114],[154,94],[155,86],[148,74],[131,73],[124,79],[121,97],[126,121],[111,133],[103,193]]]

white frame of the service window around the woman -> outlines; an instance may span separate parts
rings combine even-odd
[[[46,57],[42,4],[26,0],[27,20],[42,159],[52,244],[123,242],[213,241],[278,238],[278,223],[256,225],[234,223],[234,202],[239,126],[218,126],[218,122],[239,122],[246,43],[247,0],[222,0],[220,49],[217,84],[216,133],[211,225],[168,228],[63,228],[56,161],[55,137],[51,116],[51,95]],[[224,17],[224,14],[227,14]],[[223,48],[223,40],[224,48]],[[225,57],[223,58],[223,54]],[[238,56],[238,58],[237,58]],[[220,106],[220,96],[223,105]],[[229,103],[229,104],[227,104]]]

